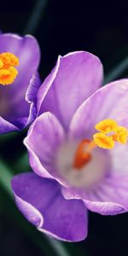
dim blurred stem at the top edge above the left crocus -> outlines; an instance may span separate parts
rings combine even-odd
[[[48,3],[48,0],[38,0],[36,2],[36,5],[32,10],[32,15],[30,16],[30,20],[28,20],[26,28],[23,32],[24,34],[27,34],[27,33],[34,34],[36,32],[38,23],[43,17],[44,10],[47,6],[47,3]]]

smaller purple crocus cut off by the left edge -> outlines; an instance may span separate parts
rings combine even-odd
[[[0,34],[0,134],[20,131],[35,119],[39,60],[35,38]]]

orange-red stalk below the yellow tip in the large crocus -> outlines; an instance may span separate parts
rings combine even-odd
[[[88,139],[84,139],[81,143],[79,143],[79,147],[77,148],[73,162],[73,167],[79,170],[85,164],[87,164],[91,160],[90,153],[94,148],[96,148],[96,144]]]

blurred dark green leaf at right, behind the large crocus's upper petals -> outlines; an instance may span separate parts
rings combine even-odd
[[[104,84],[108,84],[114,79],[119,79],[122,73],[124,73],[128,69],[128,57],[126,57],[123,61],[121,61],[116,67],[105,76]]]

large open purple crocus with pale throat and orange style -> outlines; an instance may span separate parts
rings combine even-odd
[[[38,90],[38,118],[25,139],[34,173],[12,180],[24,216],[64,241],[87,236],[87,209],[128,211],[128,79],[101,84],[95,55],[59,56]]]

